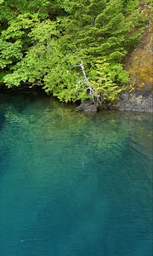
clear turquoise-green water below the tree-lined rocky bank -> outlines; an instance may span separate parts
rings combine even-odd
[[[150,114],[0,95],[0,255],[151,256]]]

